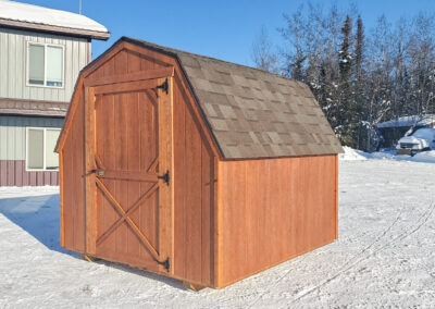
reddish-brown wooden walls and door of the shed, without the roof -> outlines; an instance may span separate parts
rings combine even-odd
[[[165,78],[132,77],[171,67],[169,95],[154,88]],[[66,248],[84,251],[89,225],[96,256],[223,287],[337,237],[337,156],[223,161],[178,63],[153,50],[121,42],[82,78],[101,84],[97,156],[94,165],[83,157],[92,112],[80,84],[58,147]],[[107,171],[94,223],[83,211],[90,168]],[[170,186],[157,181],[166,170]],[[166,257],[170,272],[156,263]]]

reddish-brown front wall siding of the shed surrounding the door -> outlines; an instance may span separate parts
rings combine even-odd
[[[135,50],[121,50],[111,55],[105,62],[97,67],[86,79],[95,79],[107,76],[117,76],[126,73],[157,70],[166,66],[175,66],[176,75],[173,78],[173,123],[174,123],[174,276],[202,285],[213,285],[212,268],[212,208],[213,208],[213,174],[214,174],[214,152],[211,149],[211,143],[202,129],[203,123],[198,118],[199,112],[191,94],[186,89],[186,82],[181,74],[181,70],[174,59],[162,55],[153,51],[139,53]],[[76,91],[83,92],[83,86],[77,87]],[[83,100],[82,96],[79,100]],[[100,102],[101,103],[101,102]],[[104,101],[102,101],[104,103]],[[120,111],[122,112],[122,111]],[[140,120],[137,120],[140,121]],[[73,158],[80,162],[76,166],[79,170],[64,169],[64,231],[65,247],[84,251],[84,231],[85,218],[82,217],[82,225],[78,230],[70,228],[75,223],[73,214],[79,212],[83,215],[83,106],[78,107],[74,119],[71,120],[72,126],[65,139],[63,161],[71,162]],[[129,121],[130,125],[133,124]],[[114,129],[117,124],[114,125]],[[79,148],[72,148],[72,136],[74,129],[80,127]],[[144,126],[146,127],[146,126]],[[76,129],[77,131],[77,129]],[[108,132],[108,135],[113,135]],[[76,138],[76,137],[74,137]],[[105,138],[112,138],[107,136]],[[130,149],[133,150],[133,149]],[[78,153],[78,151],[80,153]],[[66,154],[67,152],[67,154]],[[132,151],[128,151],[132,156]],[[78,154],[78,157],[77,157]],[[134,160],[134,156],[132,157]],[[73,176],[74,173],[74,176]],[[78,180],[79,178],[79,180]],[[110,183],[110,181],[107,181]],[[77,201],[79,191],[80,201]],[[100,200],[101,202],[101,200]],[[98,202],[97,202],[98,203]],[[104,202],[102,202],[104,203]],[[105,221],[112,222],[119,217],[110,205],[104,203],[108,218],[98,217],[98,225],[107,226]],[[100,213],[101,214],[101,213]],[[75,214],[76,215],[76,214]],[[110,217],[111,215],[111,217]],[[109,218],[110,217],[110,218]],[[151,233],[152,234],[152,233]],[[70,238],[79,237],[80,247],[70,245]],[[156,236],[157,237],[157,236]],[[151,242],[157,238],[150,235]],[[154,239],[156,238],[156,239]],[[110,244],[110,242],[109,242]],[[132,248],[133,250],[133,248]],[[97,255],[98,256],[98,252]],[[142,262],[135,263],[132,260],[125,260],[123,257],[108,256],[113,261],[124,261],[132,265],[144,267]]]

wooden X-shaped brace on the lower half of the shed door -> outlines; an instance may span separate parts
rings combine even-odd
[[[123,222],[126,222],[130,227],[133,233],[136,234],[136,236],[142,242],[145,247],[149,250],[151,254],[152,259],[158,263],[163,265],[166,271],[170,271],[170,259],[166,258],[165,260],[161,260],[158,251],[152,247],[151,243],[148,240],[147,236],[144,235],[144,233],[140,232],[139,227],[133,222],[133,220],[129,218],[129,214],[139,207],[141,201],[144,199],[147,199],[150,197],[159,187],[159,184],[156,183],[153,184],[144,195],[141,195],[132,206],[127,211],[124,211],[122,208],[121,203],[114,198],[114,196],[109,191],[108,187],[97,177],[96,178],[97,186],[102,190],[102,193],[109,198],[109,201],[114,206],[114,208],[117,210],[120,213],[120,219],[113,223],[113,225],[104,232],[98,239],[97,239],[97,246],[100,245],[104,239],[108,238],[110,234],[113,233],[113,231],[116,230],[117,226],[120,226]]]

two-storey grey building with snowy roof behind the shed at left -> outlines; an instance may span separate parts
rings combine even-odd
[[[91,40],[79,14],[0,0],[0,186],[58,185],[54,146]]]

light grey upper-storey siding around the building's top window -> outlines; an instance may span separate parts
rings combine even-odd
[[[27,41],[64,47],[63,88],[26,86]],[[0,28],[0,98],[70,101],[78,73],[88,63],[88,48],[84,38]]]

